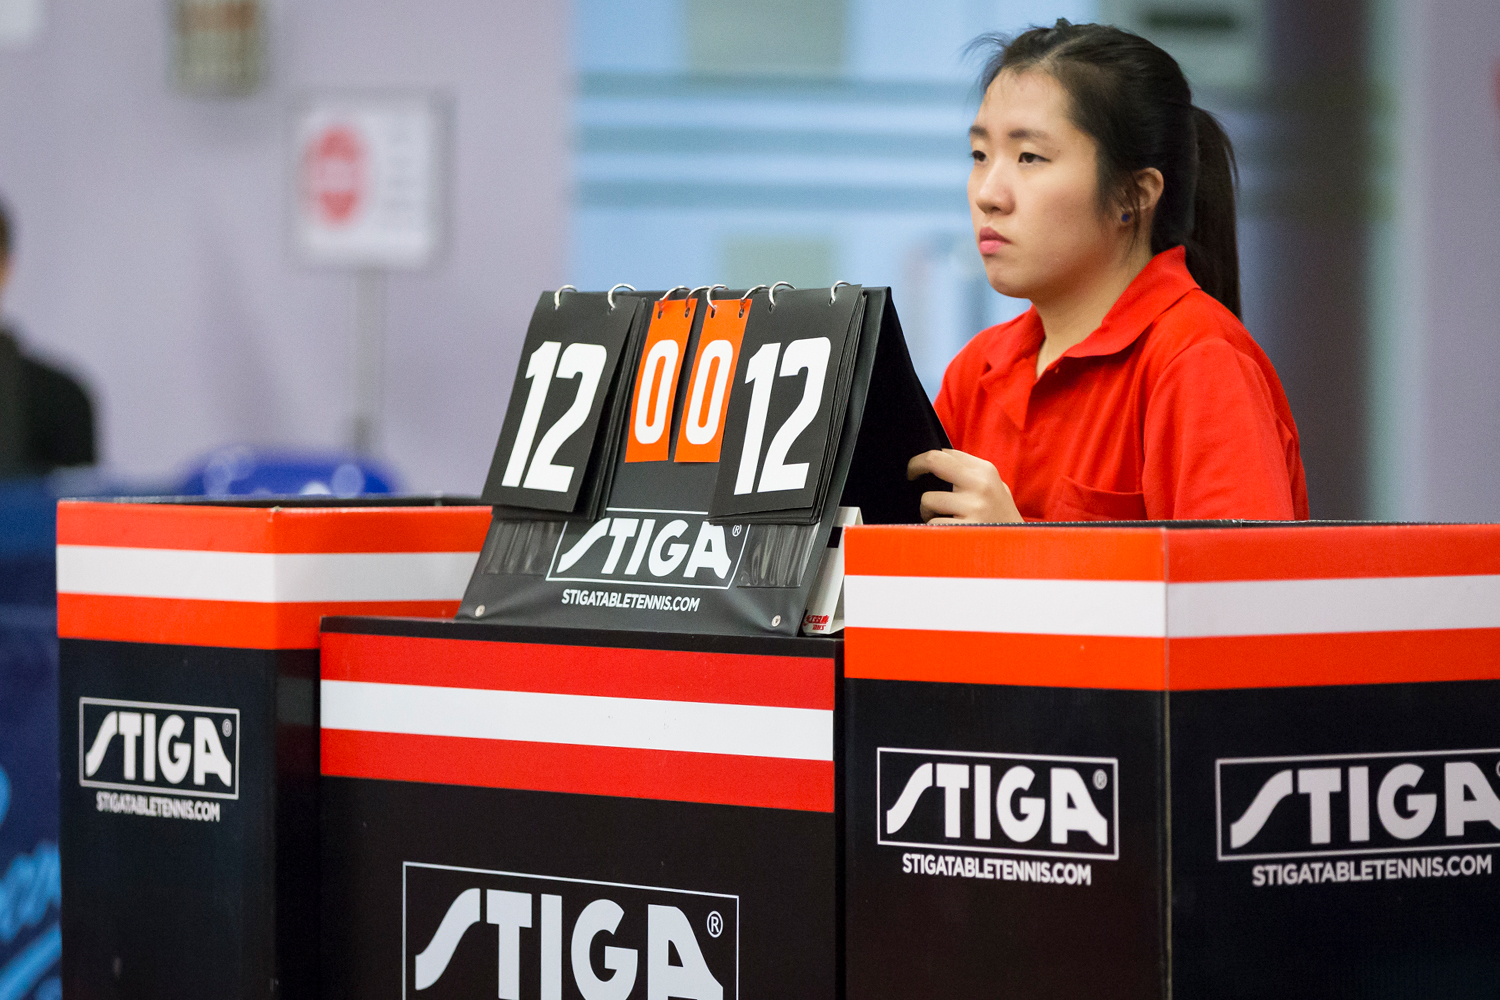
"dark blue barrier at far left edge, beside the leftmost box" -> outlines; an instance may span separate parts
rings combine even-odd
[[[57,499],[0,483],[0,1000],[62,996]]]

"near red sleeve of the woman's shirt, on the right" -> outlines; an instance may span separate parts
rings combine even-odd
[[[1292,520],[1287,448],[1256,360],[1226,340],[1196,343],[1167,363],[1146,403],[1148,517]]]

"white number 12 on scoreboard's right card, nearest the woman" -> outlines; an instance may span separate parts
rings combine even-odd
[[[765,468],[760,469],[760,487],[756,489],[756,465],[760,462],[760,441],[765,439],[765,421],[771,411],[771,381],[776,373],[776,355],[780,351],[780,343],[768,343],[756,351],[750,363],[746,364],[746,381],[754,388],[750,390],[750,415],[746,421],[744,450],[740,453],[740,469],[735,475],[735,495],[752,490],[756,493],[800,490],[807,486],[807,462],[788,463],[786,453],[792,450],[792,444],[818,415],[832,343],[828,337],[808,337],[786,345],[786,354],[782,355],[782,375],[796,375],[806,369],[807,382],[802,385],[802,399],[796,403],[796,409],[771,438],[771,447],[765,453]]]

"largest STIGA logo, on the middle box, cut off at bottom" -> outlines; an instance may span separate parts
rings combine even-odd
[[[734,1000],[740,897],[402,865],[402,996]]]

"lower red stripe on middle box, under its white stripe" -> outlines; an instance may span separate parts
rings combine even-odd
[[[322,730],[322,774],[832,813],[831,760]]]

